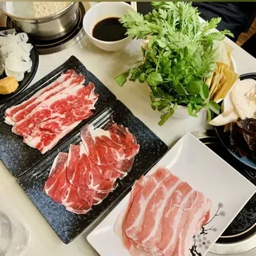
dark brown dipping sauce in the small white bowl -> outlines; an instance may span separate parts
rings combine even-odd
[[[112,42],[126,38],[126,28],[118,17],[109,17],[97,22],[92,30],[92,36],[98,40]]]

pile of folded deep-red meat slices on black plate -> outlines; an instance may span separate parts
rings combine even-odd
[[[50,170],[44,192],[68,211],[86,214],[116,188],[117,178],[130,171],[140,145],[124,126],[107,130],[84,126],[82,142],[60,152]]]

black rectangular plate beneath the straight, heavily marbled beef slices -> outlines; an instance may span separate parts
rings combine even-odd
[[[93,115],[87,120],[82,121],[76,128],[69,132],[68,135],[64,136],[64,138],[55,145],[54,149],[58,148],[64,141],[68,140],[70,136],[84,126],[85,123],[97,116],[98,113],[116,102],[116,96],[74,56],[71,56],[64,64],[59,66],[59,68],[46,75],[45,78],[42,78],[39,82],[33,84],[31,88],[21,92],[11,102],[8,102],[0,108],[0,159],[14,177],[19,177],[21,174],[26,173],[31,167],[50,155],[54,149],[45,154],[41,154],[39,150],[33,149],[23,143],[21,136],[12,133],[12,126],[8,126],[4,122],[4,112],[8,107],[17,105],[31,97],[35,92],[53,82],[61,73],[68,69],[74,69],[77,73],[83,73],[85,75],[85,85],[88,84],[88,82],[94,83],[95,92],[99,94],[99,98],[95,105],[96,109]]]

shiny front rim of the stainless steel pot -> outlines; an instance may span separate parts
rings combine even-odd
[[[75,4],[78,4],[79,2],[70,2],[64,9],[60,10],[59,12],[55,12],[53,14],[44,16],[44,17],[19,17],[14,14],[11,14],[2,7],[0,7],[1,12],[3,12],[7,17],[12,18],[15,21],[23,21],[26,23],[40,23],[40,22],[45,22],[45,21],[53,21],[56,18],[60,17],[64,13],[68,12]]]

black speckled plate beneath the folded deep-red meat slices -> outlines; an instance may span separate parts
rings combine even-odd
[[[68,152],[69,144],[77,144],[80,141],[79,132],[61,145],[58,150],[55,150],[53,154],[43,159],[40,164],[31,168],[30,172],[18,178],[18,183],[27,196],[31,198],[31,201],[65,244],[69,244],[116,201],[119,201],[129,191],[135,180],[140,178],[142,174],[147,173],[168,150],[168,146],[136,118],[124,104],[116,101],[114,106],[107,111],[103,111],[104,114],[109,113],[109,110],[111,110],[111,115],[109,115],[108,120],[113,120],[117,124],[128,127],[140,145],[140,152],[135,157],[135,163],[130,173],[126,178],[118,181],[116,190],[111,192],[101,204],[92,206],[92,210],[86,215],[76,215],[66,211],[64,206],[59,205],[43,192],[55,156],[59,151]],[[90,121],[90,123],[94,121]]]

